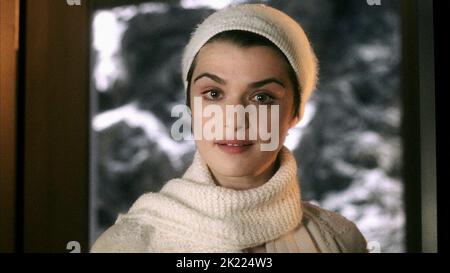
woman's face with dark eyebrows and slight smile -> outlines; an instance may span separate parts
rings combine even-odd
[[[226,105],[246,107],[253,104],[258,109],[258,116],[258,106],[267,105],[266,126],[270,132],[278,133],[278,145],[271,151],[261,149],[261,144],[270,140],[263,141],[259,133],[256,140],[244,143],[245,147],[230,147],[214,139],[196,140],[197,149],[213,174],[235,178],[260,175],[275,162],[288,129],[298,122],[298,117],[293,117],[294,96],[287,69],[289,64],[279,54],[267,46],[243,48],[224,41],[208,43],[199,51],[190,86],[193,126],[198,123],[203,126],[214,118],[202,116],[203,109],[208,105],[217,105],[222,109],[223,132],[227,130],[225,127],[229,127],[226,123]],[[264,81],[266,79],[274,80]],[[262,81],[265,83],[254,84]],[[194,104],[195,97],[201,98],[201,107]],[[274,120],[277,124],[271,121],[270,107],[274,105],[279,107],[279,115]],[[236,121],[233,132],[238,130]],[[246,140],[249,140],[248,115],[245,121]],[[223,139],[236,140],[238,137],[236,134],[233,138],[224,135]]]

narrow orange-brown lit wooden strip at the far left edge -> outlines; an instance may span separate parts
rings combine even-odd
[[[14,251],[18,0],[0,1],[0,252]]]

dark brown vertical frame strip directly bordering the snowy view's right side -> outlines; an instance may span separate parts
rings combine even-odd
[[[402,1],[402,138],[406,249],[422,251],[420,74],[417,1]]]

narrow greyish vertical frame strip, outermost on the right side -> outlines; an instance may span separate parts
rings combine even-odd
[[[437,252],[433,2],[418,1],[422,252]]]

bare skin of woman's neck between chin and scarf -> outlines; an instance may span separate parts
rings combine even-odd
[[[234,190],[248,190],[262,186],[264,183],[269,181],[269,179],[275,174],[278,168],[279,162],[277,158],[259,175],[224,176],[214,172],[211,169],[210,170],[216,185]]]

